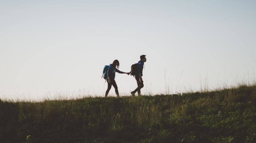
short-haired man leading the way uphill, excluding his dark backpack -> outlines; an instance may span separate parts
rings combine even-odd
[[[131,92],[132,96],[135,96],[135,93],[138,91],[138,96],[140,96],[140,89],[144,87],[143,80],[142,80],[142,71],[143,71],[143,66],[144,62],[146,62],[146,55],[141,55],[140,56],[140,61],[138,62],[138,72],[135,75],[135,80],[137,82],[138,87]]]

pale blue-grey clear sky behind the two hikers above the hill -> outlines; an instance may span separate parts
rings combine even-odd
[[[141,94],[255,82],[256,1],[2,0],[0,99],[104,96],[147,55]],[[136,89],[116,73],[121,96]],[[116,96],[114,88],[109,96]]]

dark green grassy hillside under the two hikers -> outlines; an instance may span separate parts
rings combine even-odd
[[[1,143],[256,142],[256,86],[141,97],[0,99]]]

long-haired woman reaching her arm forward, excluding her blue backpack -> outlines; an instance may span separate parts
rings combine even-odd
[[[108,78],[107,78],[108,89],[106,91],[105,97],[108,96],[108,92],[111,89],[112,85],[115,88],[117,97],[119,97],[119,93],[118,93],[118,89],[117,89],[117,85],[116,85],[116,81],[115,81],[116,72],[118,72],[120,74],[127,74],[127,75],[130,74],[130,73],[122,72],[122,71],[118,70],[118,68],[119,68],[119,61],[118,60],[113,61],[113,63],[110,64],[109,67],[108,67]]]

